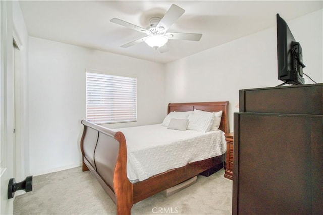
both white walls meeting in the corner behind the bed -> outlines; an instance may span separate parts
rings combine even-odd
[[[283,14],[281,14],[284,17]],[[273,19],[276,19],[274,17]],[[322,73],[322,10],[288,22],[303,47],[304,72]],[[229,100],[230,129],[240,89],[277,80],[276,26],[166,65],[29,37],[29,161],[38,175],[80,165],[80,120],[85,118],[85,69],[136,75],[138,121],[160,123],[169,102]],[[311,81],[305,77],[306,84]]]

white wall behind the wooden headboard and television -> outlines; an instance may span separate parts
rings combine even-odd
[[[323,82],[322,10],[287,23],[302,45],[304,72]],[[240,89],[282,83],[277,79],[276,26],[174,61],[165,70],[165,103],[228,100],[233,131]],[[305,83],[312,82],[305,77]]]

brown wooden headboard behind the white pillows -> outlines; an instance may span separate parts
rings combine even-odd
[[[194,109],[208,112],[219,112],[222,110],[222,117],[219,129],[225,133],[230,131],[228,119],[229,101],[223,102],[191,102],[191,103],[169,103],[167,113],[172,111],[193,111]]]

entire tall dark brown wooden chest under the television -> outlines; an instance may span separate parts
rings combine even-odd
[[[233,214],[321,214],[323,84],[240,90]]]

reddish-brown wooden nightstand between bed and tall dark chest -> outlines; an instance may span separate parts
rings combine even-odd
[[[233,132],[225,134],[227,141],[227,153],[224,177],[232,180],[233,176]]]

